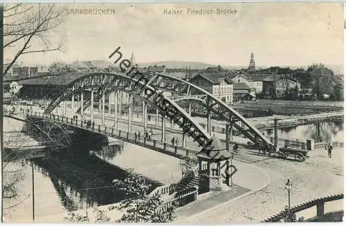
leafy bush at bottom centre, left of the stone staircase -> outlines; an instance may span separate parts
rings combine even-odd
[[[124,182],[114,180],[113,183],[126,197],[119,207],[113,207],[125,210],[125,214],[118,220],[119,223],[169,223],[174,220],[174,205],[161,209],[161,196],[147,194],[151,185],[142,176],[129,171],[129,176]]]

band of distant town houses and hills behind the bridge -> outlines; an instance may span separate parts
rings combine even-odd
[[[256,98],[267,99],[290,99],[298,98],[302,89],[300,83],[289,73],[289,68],[271,67],[262,70],[256,70],[255,57],[251,54],[251,60],[248,68],[241,70],[226,70],[221,66],[201,68],[167,68],[165,65],[153,65],[136,70],[141,73],[163,73],[184,79],[192,84],[203,88],[215,97],[219,98],[226,104],[232,104],[242,100],[255,100]],[[10,83],[6,81],[15,78],[40,77],[42,75],[69,75],[69,76],[52,76],[37,79],[28,79],[20,81],[22,85],[20,95],[31,98],[56,97],[57,94],[73,79],[83,73],[118,73],[120,72],[111,62],[105,61],[80,61],[66,64],[58,62],[50,67],[21,67],[14,64],[5,76],[5,89],[10,90]],[[111,95],[110,98],[113,98]],[[128,102],[129,95],[123,93],[122,99]],[[125,101],[127,100],[127,101]]]

